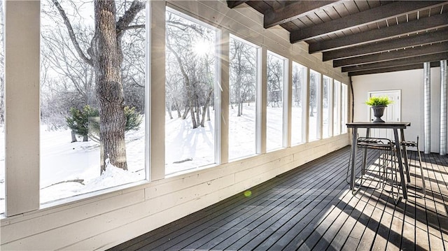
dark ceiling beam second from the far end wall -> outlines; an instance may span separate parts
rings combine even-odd
[[[397,59],[385,62],[378,62],[372,64],[361,64],[358,66],[346,66],[342,67],[342,72],[353,72],[353,71],[367,71],[373,69],[381,69],[395,66],[406,66],[409,64],[421,64],[424,62],[437,62],[440,60],[448,59],[448,52],[441,52],[430,55],[410,57],[406,59]]]

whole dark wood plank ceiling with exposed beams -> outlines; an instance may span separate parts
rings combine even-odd
[[[448,1],[227,1],[254,8],[349,76],[422,69],[448,59]]]

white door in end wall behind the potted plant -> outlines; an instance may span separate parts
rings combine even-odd
[[[380,92],[369,92],[370,96],[388,96],[389,99],[393,100],[393,103],[386,107],[384,110],[384,115],[381,117],[387,122],[400,122],[401,121],[401,90],[390,90],[390,91],[380,91]],[[372,113],[372,108],[368,107],[370,121],[374,120]],[[370,136],[375,138],[389,138],[394,140],[392,129],[372,129],[370,131]]]

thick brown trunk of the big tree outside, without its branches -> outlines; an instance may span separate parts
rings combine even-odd
[[[123,54],[116,30],[114,1],[94,1],[95,34],[92,39],[96,95],[99,101],[99,141],[101,172],[106,159],[127,170],[124,94],[121,83]]]

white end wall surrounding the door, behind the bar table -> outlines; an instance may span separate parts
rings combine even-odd
[[[353,121],[368,121],[369,107],[364,101],[369,91],[401,90],[401,121],[411,122],[405,130],[407,141],[416,141],[423,150],[423,69],[353,76]],[[440,67],[431,69],[431,152],[440,147]],[[364,130],[359,131],[365,134]]]

